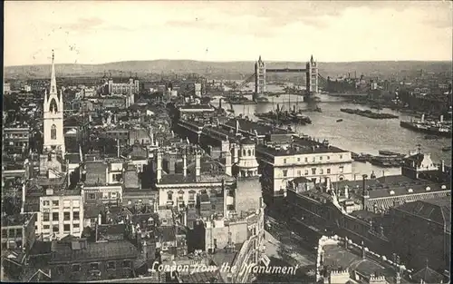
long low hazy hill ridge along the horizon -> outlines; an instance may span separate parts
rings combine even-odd
[[[103,73],[129,76],[138,73],[140,77],[160,73],[199,73],[207,78],[235,77],[245,78],[254,72],[254,62],[201,62],[192,60],[153,60],[125,61],[109,64],[56,64],[57,76],[102,76]],[[301,68],[305,63],[295,62],[266,62],[269,68]],[[387,62],[351,62],[351,63],[318,63],[320,73],[324,77],[338,76],[354,72],[360,76],[387,76],[401,71],[414,72],[423,69],[424,72],[447,72],[451,70],[451,62],[421,62],[421,61],[387,61]],[[49,65],[6,66],[6,79],[47,78],[50,74]]]

